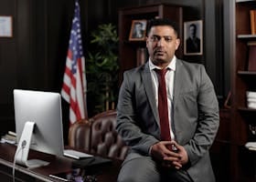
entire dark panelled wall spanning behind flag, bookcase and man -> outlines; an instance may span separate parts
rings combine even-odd
[[[1,133],[14,130],[14,88],[59,92],[64,72],[69,31],[75,0],[0,0],[0,15],[13,17],[11,38],[0,37],[0,122]],[[202,19],[203,56],[184,58],[205,64],[219,97],[225,96],[221,47],[221,8],[223,0],[80,0],[81,29],[85,52],[90,49],[91,30],[101,23],[117,25],[118,10],[123,7],[172,3],[184,5],[185,21]],[[225,68],[226,69],[226,68]],[[227,84],[228,83],[228,84]],[[68,110],[63,106],[67,126]],[[65,129],[67,134],[67,128]]]

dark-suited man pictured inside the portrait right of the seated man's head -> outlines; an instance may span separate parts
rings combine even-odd
[[[187,53],[200,53],[200,39],[197,37],[197,25],[189,25],[189,37],[186,40]]]

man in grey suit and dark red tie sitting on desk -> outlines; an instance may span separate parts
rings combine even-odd
[[[219,128],[218,100],[204,66],[176,58],[179,44],[173,22],[150,21],[149,60],[123,74],[116,129],[130,151],[119,182],[215,181],[208,149]],[[164,98],[158,98],[160,79],[155,69],[167,71],[166,112],[159,109]],[[169,126],[163,127],[166,113]],[[162,139],[166,128],[169,140]]]

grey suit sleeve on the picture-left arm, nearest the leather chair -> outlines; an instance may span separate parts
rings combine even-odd
[[[117,105],[117,132],[123,137],[125,143],[144,155],[148,155],[149,148],[158,140],[145,134],[141,129],[140,118],[136,115],[135,81],[133,73],[123,74],[123,84],[120,88]]]

